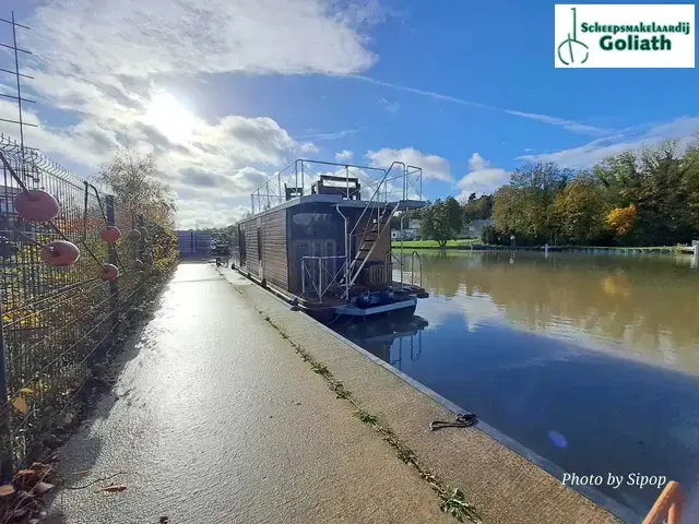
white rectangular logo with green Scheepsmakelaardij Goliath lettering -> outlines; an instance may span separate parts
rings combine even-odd
[[[694,68],[694,4],[556,4],[556,68]]]

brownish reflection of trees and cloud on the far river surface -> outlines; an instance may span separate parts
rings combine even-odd
[[[423,285],[445,315],[508,323],[699,376],[699,273],[684,257],[520,252],[423,255]],[[408,260],[410,263],[410,260]]]

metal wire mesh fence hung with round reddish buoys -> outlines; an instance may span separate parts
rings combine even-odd
[[[74,416],[94,366],[152,287],[154,259],[170,247],[154,241],[162,233],[156,227],[38,152],[0,136],[0,153],[7,160],[0,167],[0,458],[7,477]],[[60,214],[52,223],[20,216],[13,200],[23,189],[12,170],[28,190],[56,196]],[[100,238],[111,225],[122,231],[116,243]],[[128,239],[139,227],[145,235]],[[42,246],[60,239],[78,246],[80,258],[69,266],[47,265]],[[103,263],[117,265],[118,278],[103,279]]]

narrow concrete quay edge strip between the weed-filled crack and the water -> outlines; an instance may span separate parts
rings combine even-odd
[[[460,488],[483,522],[618,522],[596,503],[626,521],[640,520],[594,489],[581,487],[578,492],[562,486],[562,471],[484,422],[467,429],[430,431],[431,420],[453,419],[461,409],[330,329],[292,311],[236,272],[223,269],[222,273],[304,358],[327,369],[333,381],[350,392],[362,412],[372,417],[375,428],[390,428],[404,450],[399,455],[408,452],[407,456],[445,485]],[[380,430],[379,434],[384,438]]]

